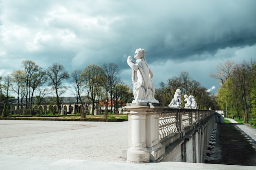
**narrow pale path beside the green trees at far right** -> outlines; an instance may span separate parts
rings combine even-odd
[[[251,142],[251,144],[256,148],[256,129],[246,125],[236,122],[234,119],[228,119],[231,123],[235,124],[236,127],[238,127],[238,130],[240,130]]]

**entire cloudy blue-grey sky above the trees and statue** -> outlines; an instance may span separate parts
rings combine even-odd
[[[216,92],[220,62],[256,58],[256,0],[0,0],[0,76],[23,60],[70,73],[112,62],[130,84],[137,48],[156,87],[187,71]]]

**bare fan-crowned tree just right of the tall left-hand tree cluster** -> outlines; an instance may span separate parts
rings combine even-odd
[[[69,78],[68,72],[65,70],[63,65],[59,63],[54,63],[47,70],[45,70],[46,75],[49,78],[49,85],[52,85],[56,93],[56,104],[58,110],[60,109],[59,96],[66,91],[66,87],[63,85],[63,81]]]

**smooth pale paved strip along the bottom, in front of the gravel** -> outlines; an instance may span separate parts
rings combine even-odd
[[[255,166],[207,163],[128,163],[0,154],[1,170],[256,170]]]

